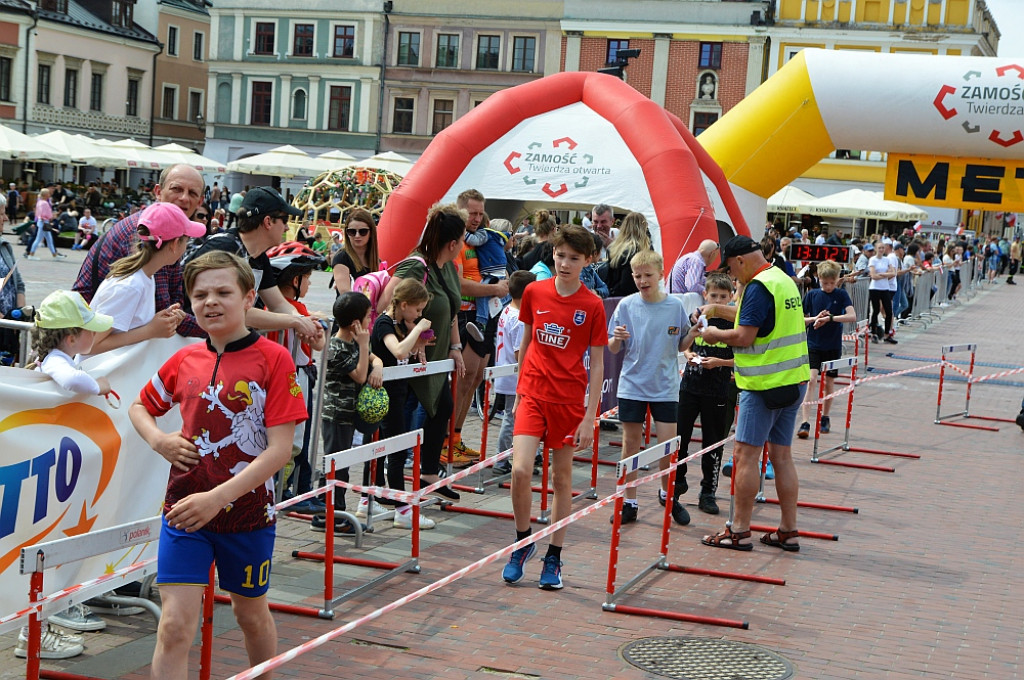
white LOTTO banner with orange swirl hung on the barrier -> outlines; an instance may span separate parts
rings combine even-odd
[[[175,351],[175,337],[132,345],[84,363],[121,395],[71,395],[36,371],[0,368],[0,617],[28,603],[18,573],[24,547],[160,514],[168,463],[135,433],[128,407]],[[177,410],[160,421],[180,429]],[[156,537],[155,537],[156,538]],[[48,569],[52,593],[156,555],[156,541]]]

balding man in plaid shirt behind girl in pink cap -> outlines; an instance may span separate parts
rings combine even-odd
[[[160,182],[154,188],[154,196],[157,201],[177,205],[188,219],[191,219],[203,201],[204,186],[203,175],[194,167],[174,165],[160,174]],[[72,286],[72,290],[81,293],[86,301],[92,300],[99,284],[106,278],[111,265],[138,249],[140,215],[141,211],[136,212],[112,226],[86,254],[78,279]],[[153,280],[157,288],[157,309],[166,309],[175,302],[185,308],[180,264],[163,267],[154,274]],[[206,337],[206,333],[196,324],[196,317],[191,314],[187,314],[178,325],[178,335]]]

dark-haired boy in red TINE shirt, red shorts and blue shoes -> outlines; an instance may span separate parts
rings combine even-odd
[[[594,239],[582,226],[569,225],[551,241],[555,277],[526,287],[519,305],[523,324],[519,349],[519,384],[512,438],[512,511],[516,541],[530,535],[529,510],[534,454],[544,439],[552,456],[552,521],[569,514],[572,503],[572,452],[594,439],[594,419],[604,381],[604,303],[580,283],[580,271],[594,251]],[[590,392],[584,356],[590,350]],[[586,406],[585,406],[586,402]],[[540,587],[562,587],[561,553],[565,529],[551,536]],[[523,566],[537,552],[529,544],[509,557],[502,572],[506,583],[522,581]]]

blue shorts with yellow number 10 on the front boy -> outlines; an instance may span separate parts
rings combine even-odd
[[[217,563],[220,588],[244,597],[261,597],[270,587],[275,526],[255,532],[187,534],[161,518],[157,555],[158,586],[206,586]]]

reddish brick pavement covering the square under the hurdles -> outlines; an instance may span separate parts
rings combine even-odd
[[[72,253],[72,257],[78,253]],[[80,257],[80,256],[79,256]],[[72,263],[26,262],[23,273],[30,300],[41,299],[47,286],[59,285]],[[326,277],[314,281],[311,306],[326,309]],[[899,345],[871,345],[867,375],[883,376],[858,388],[851,443],[854,447],[921,454],[920,460],[863,453],[840,453],[828,459],[887,465],[894,473],[814,465],[810,441],[795,445],[801,500],[853,506],[859,513],[802,509],[804,530],[839,535],[840,540],[805,538],[800,553],[755,544],[750,553],[705,548],[699,537],[719,528],[725,515],[696,509],[691,492],[683,500],[693,522],[673,526],[669,560],[688,566],[742,571],[785,579],[785,586],[765,586],[684,573],[645,577],[623,602],[656,609],[749,622],[749,630],[719,628],[653,618],[604,612],[608,564],[609,511],[600,509],[573,524],[563,560],[565,588],[536,587],[540,563],[531,562],[516,587],[503,584],[494,564],[425,596],[286,666],[281,674],[325,678],[654,678],[621,655],[634,640],[664,635],[724,638],[762,645],[788,660],[795,677],[815,679],[926,677],[1016,678],[1021,673],[1024,608],[1018,540],[1024,525],[1022,504],[1013,501],[1022,485],[1024,433],[1012,423],[990,422],[998,431],[945,427],[933,423],[937,370],[904,377],[882,371],[927,366],[940,346],[978,343],[977,374],[1000,369],[985,364],[1022,364],[1018,338],[1024,331],[1024,296],[1004,284],[990,287],[964,304],[949,307],[927,329],[899,333]],[[887,355],[892,354],[892,355]],[[966,358],[966,355],[964,356]],[[1013,418],[1019,410],[1024,377],[976,385],[975,415]],[[947,383],[944,409],[961,408],[965,384]],[[842,405],[834,412],[833,433],[823,445],[841,441]],[[982,421],[971,421],[981,423]],[[466,438],[478,440],[480,421],[470,416]],[[497,421],[492,425],[497,426]],[[497,434],[497,430],[492,430]],[[601,456],[617,433],[603,433]],[[492,438],[494,440],[494,438]],[[492,449],[493,450],[493,449]],[[691,444],[691,450],[694,444]],[[600,468],[598,494],[614,488],[611,467]],[[691,482],[693,481],[691,466]],[[353,477],[357,478],[357,477]],[[577,465],[575,486],[588,484],[589,467]],[[692,484],[696,486],[696,484]],[[768,482],[767,495],[774,495]],[[660,508],[654,491],[640,492],[640,519],[623,533],[618,558],[621,583],[657,555]],[[510,510],[508,493],[488,487],[464,493],[462,505]],[[719,492],[725,511],[727,480]],[[589,501],[581,500],[574,507]],[[537,505],[535,504],[535,509]],[[508,545],[511,522],[464,513],[426,510],[437,528],[423,533],[422,571],[403,573],[340,605],[326,621],[275,614],[282,650],[330,631]],[[755,522],[773,525],[777,506],[759,505]],[[323,549],[323,535],[304,522],[280,524],[272,599],[311,606],[323,604],[322,564],[291,557],[293,550]],[[409,532],[389,522],[354,549],[342,539],[338,554],[398,559],[409,554]],[[546,542],[542,542],[542,547]],[[352,588],[367,569],[338,565],[336,587]],[[1014,612],[1017,613],[1014,613]],[[84,654],[44,668],[101,678],[143,678],[154,644],[154,622],[146,615],[108,618],[103,633],[87,633]],[[213,676],[227,677],[248,666],[239,630],[226,607],[215,614]],[[0,677],[24,675],[24,662],[12,653],[13,638],[0,640],[5,658]],[[191,668],[199,665],[199,645]]]

